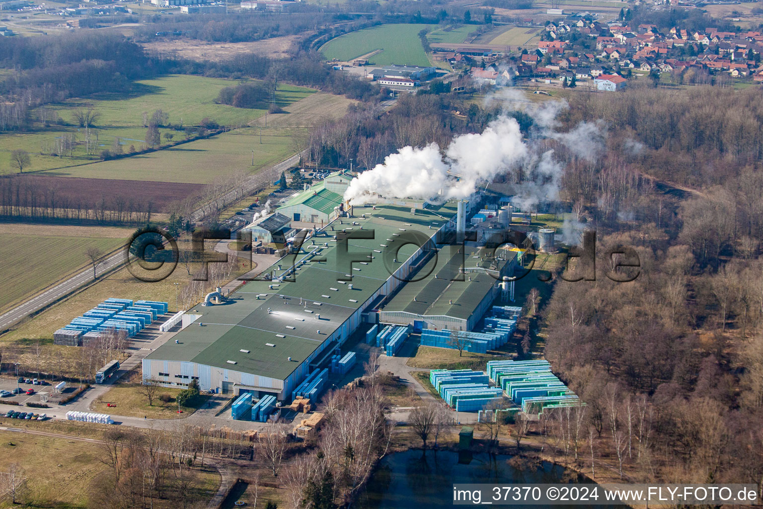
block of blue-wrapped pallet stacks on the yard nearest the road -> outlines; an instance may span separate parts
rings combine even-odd
[[[160,314],[167,312],[166,302],[137,301],[127,298],[108,298],[96,308],[85,311],[68,325],[53,333],[59,345],[82,346],[97,340],[111,330],[124,330],[133,337]]]

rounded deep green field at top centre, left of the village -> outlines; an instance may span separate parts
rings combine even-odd
[[[427,24],[381,24],[336,37],[320,48],[327,59],[343,62],[381,50],[369,57],[370,63],[386,66],[391,63],[411,66],[430,66],[427,53],[421,46],[419,32],[430,28]]]

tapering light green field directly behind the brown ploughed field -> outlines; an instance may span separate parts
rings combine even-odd
[[[178,147],[54,169],[42,175],[207,184],[237,169],[254,172],[286,159],[296,152],[292,134],[302,135],[304,130],[298,127],[265,127],[262,129],[262,143],[259,143],[259,127],[244,127]]]

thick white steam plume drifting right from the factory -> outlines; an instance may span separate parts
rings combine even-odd
[[[404,147],[390,154],[383,164],[362,172],[350,182],[344,194],[352,205],[388,198],[417,198],[443,202],[449,198],[468,198],[483,182],[517,169],[521,165],[523,182],[513,205],[530,211],[544,202],[559,198],[564,168],[553,158],[553,150],[539,153],[534,140],[552,138],[576,156],[593,160],[604,150],[604,122],[581,122],[567,133],[555,127],[567,101],[528,101],[516,89],[503,89],[486,102],[500,101],[504,111],[524,111],[533,118],[533,134],[528,145],[522,139],[517,121],[501,116],[488,124],[481,134],[463,134],[452,140],[441,153],[435,143],[423,148]]]

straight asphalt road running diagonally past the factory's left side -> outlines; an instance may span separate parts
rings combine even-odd
[[[255,175],[251,176],[249,180],[247,180],[246,184],[243,186],[244,192],[251,192],[268,182],[273,182],[278,178],[278,176],[281,175],[282,171],[290,168],[291,166],[294,166],[298,162],[299,154],[295,154],[294,156],[289,157],[281,163],[276,163],[269,168],[262,169]],[[224,197],[219,198],[218,201],[230,201],[235,197],[236,192],[231,191],[224,195]],[[195,211],[192,215],[192,221],[198,221],[201,217],[204,217],[204,211],[202,209],[198,209],[198,211]],[[108,258],[104,259],[103,262],[98,265],[96,274],[100,276],[105,272],[109,272],[112,269],[121,267],[124,265],[124,261],[124,250],[119,250],[117,253],[108,256]],[[13,324],[16,324],[18,321],[21,321],[23,318],[29,316],[30,314],[33,314],[36,311],[40,311],[40,309],[44,308],[51,302],[55,302],[63,296],[69,295],[69,293],[74,292],[77,288],[92,281],[93,270],[92,267],[89,267],[88,269],[85,269],[76,275],[72,275],[72,277],[69,279],[66,279],[63,282],[47,288],[45,292],[34,296],[23,304],[19,304],[15,308],[11,309],[11,311],[0,314],[0,333],[11,327]]]

